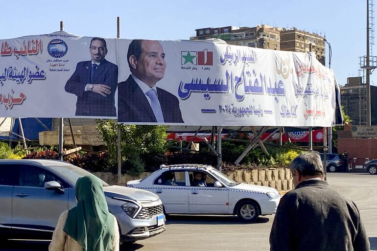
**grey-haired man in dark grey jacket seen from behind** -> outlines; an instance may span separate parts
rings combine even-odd
[[[292,160],[295,189],[280,200],[270,234],[271,251],[369,251],[357,206],[323,181],[317,152]]]

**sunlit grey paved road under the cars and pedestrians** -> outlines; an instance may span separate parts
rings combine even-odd
[[[330,186],[355,201],[367,228],[371,250],[377,251],[377,175],[330,173]],[[273,215],[255,224],[238,223],[233,216],[167,217],[166,231],[125,245],[122,251],[268,251]],[[0,251],[46,251],[48,243],[10,241]]]

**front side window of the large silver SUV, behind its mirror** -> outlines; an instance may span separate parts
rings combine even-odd
[[[56,181],[62,188],[68,187],[68,184],[61,181],[49,171],[31,165],[20,165],[20,186],[45,187],[46,182]]]

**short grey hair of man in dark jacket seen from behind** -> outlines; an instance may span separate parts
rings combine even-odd
[[[324,169],[320,155],[310,151],[297,156],[292,160],[291,172],[296,169],[303,176],[323,176]]]

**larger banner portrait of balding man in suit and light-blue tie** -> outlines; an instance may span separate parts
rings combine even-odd
[[[160,42],[133,40],[127,60],[131,75],[118,84],[118,122],[184,123],[178,98],[156,87],[166,68]]]

